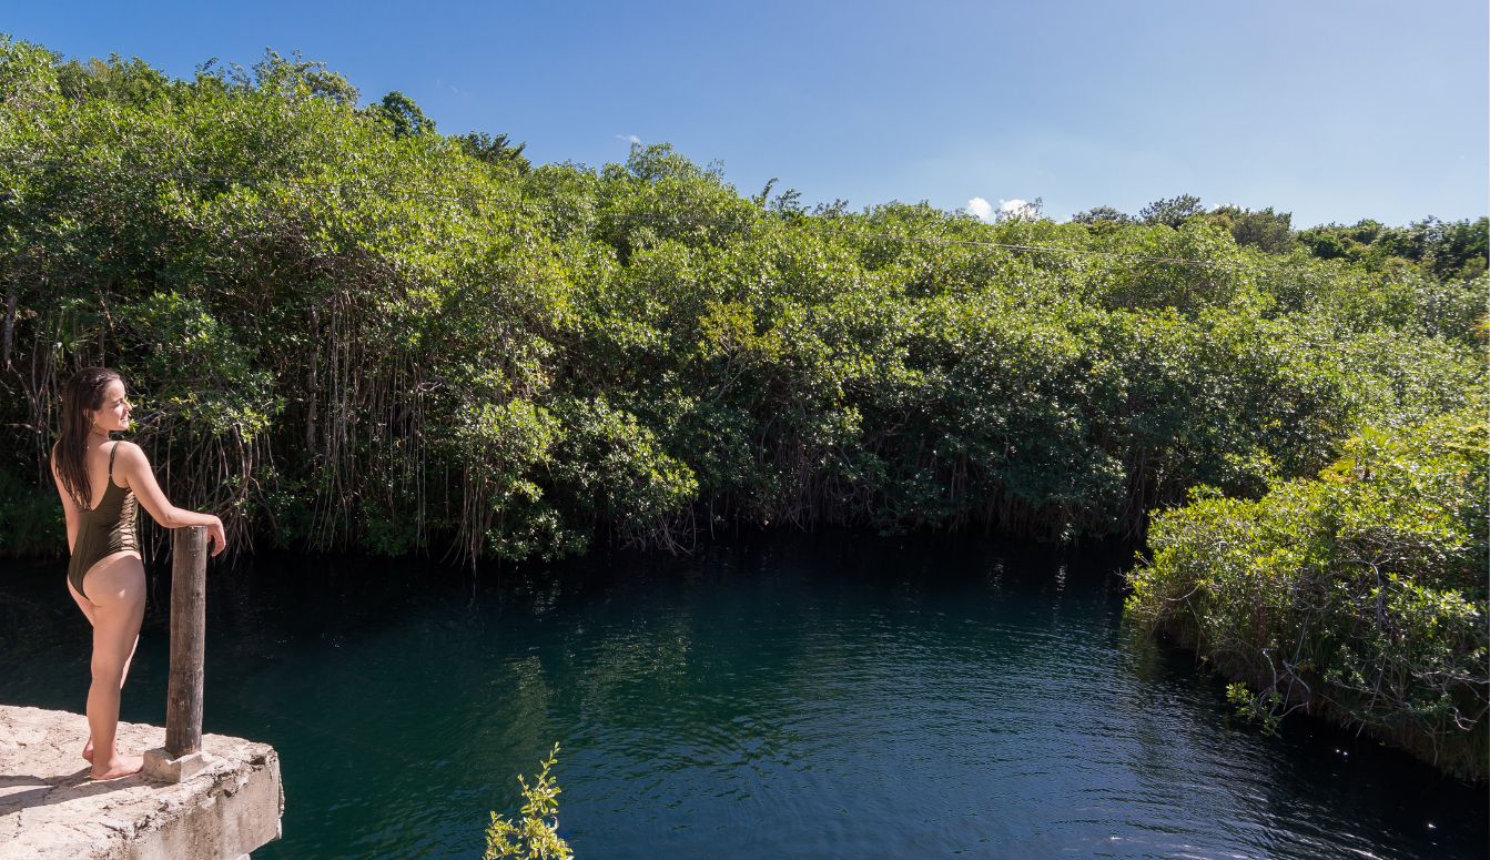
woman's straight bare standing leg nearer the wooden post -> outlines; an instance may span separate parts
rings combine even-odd
[[[94,741],[94,780],[137,774],[145,760],[121,756],[115,748],[119,729],[119,687],[145,619],[145,565],[136,554],[107,557],[88,571],[83,587],[92,602],[92,684],[88,687],[88,733]]]

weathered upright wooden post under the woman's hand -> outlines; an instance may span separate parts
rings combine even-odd
[[[145,754],[145,772],[180,782],[201,772],[201,689],[207,654],[207,529],[171,534],[171,669],[165,686],[165,748]]]

